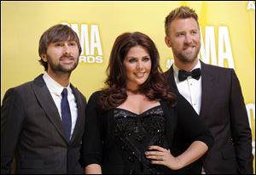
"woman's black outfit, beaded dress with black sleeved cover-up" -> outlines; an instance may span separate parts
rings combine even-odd
[[[97,164],[102,173],[109,174],[176,173],[166,166],[151,164],[144,154],[148,146],[172,150],[177,128],[183,129],[183,139],[190,143],[200,140],[209,148],[213,143],[211,133],[181,95],[177,96],[175,107],[163,100],[140,115],[119,108],[101,110],[100,95],[101,92],[93,93],[85,110],[83,167]]]

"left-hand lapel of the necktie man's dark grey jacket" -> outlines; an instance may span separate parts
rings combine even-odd
[[[35,78],[32,88],[35,92],[36,98],[38,99],[38,103],[41,104],[46,116],[49,118],[49,121],[61,134],[61,137],[67,141],[64,128],[62,126],[61,116],[57,110],[54,100],[49,93],[49,89],[44,82],[43,74]]]

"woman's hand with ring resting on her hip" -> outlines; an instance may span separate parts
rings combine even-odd
[[[177,170],[183,167],[182,162],[174,157],[170,150],[166,150],[160,146],[149,146],[148,151],[145,152],[146,158],[150,159],[152,164],[163,165]]]

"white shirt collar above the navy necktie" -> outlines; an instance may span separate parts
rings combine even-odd
[[[64,88],[67,88],[68,93],[71,91],[70,82],[68,82],[67,87],[62,87],[58,82],[55,82],[55,80],[52,79],[46,71],[44,72],[43,78],[50,93],[55,93],[60,96]]]

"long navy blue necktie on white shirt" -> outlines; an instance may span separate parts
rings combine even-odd
[[[70,140],[70,133],[71,133],[71,113],[69,109],[69,104],[67,101],[67,88],[64,88],[61,93],[61,117],[62,123],[65,129],[65,133],[67,136],[67,140]]]

